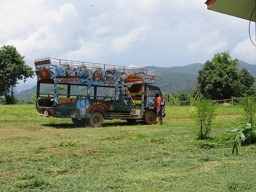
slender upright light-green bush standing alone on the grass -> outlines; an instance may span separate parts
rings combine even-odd
[[[195,123],[199,128],[198,139],[204,140],[209,138],[212,120],[216,116],[216,105],[206,99],[194,102],[197,110],[194,111],[194,108],[191,108],[192,118],[195,120]]]

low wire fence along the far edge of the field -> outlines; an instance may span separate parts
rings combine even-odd
[[[232,98],[232,99],[223,99],[223,100],[212,100],[211,102],[214,102],[218,105],[239,105],[241,104],[241,98]],[[179,106],[188,106],[193,105],[192,101],[170,101],[166,102],[166,105],[179,105]]]

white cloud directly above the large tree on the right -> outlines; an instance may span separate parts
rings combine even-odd
[[[201,52],[204,55],[212,55],[218,51],[223,51],[227,48],[227,41],[221,41],[218,31],[213,31],[201,37],[198,41],[190,43],[188,46],[189,53]]]

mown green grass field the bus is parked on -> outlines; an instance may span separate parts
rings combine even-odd
[[[254,191],[256,146],[225,130],[240,106],[218,107],[212,139],[197,140],[190,107],[169,106],[164,125],[105,121],[77,128],[38,116],[34,105],[0,105],[0,191]]]

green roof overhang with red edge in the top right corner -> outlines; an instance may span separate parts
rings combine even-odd
[[[207,0],[207,9],[250,20],[256,0]],[[256,21],[256,11],[253,12],[252,21]]]

